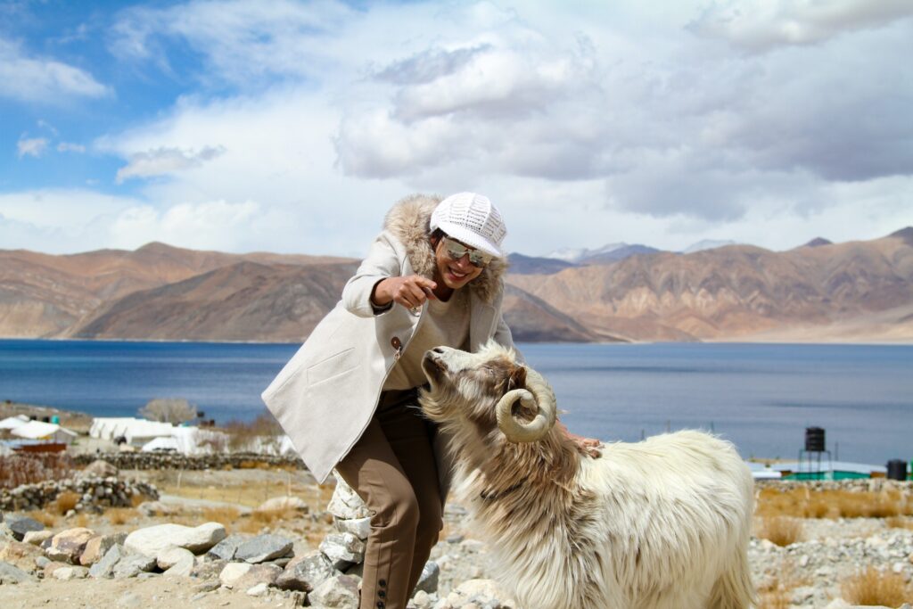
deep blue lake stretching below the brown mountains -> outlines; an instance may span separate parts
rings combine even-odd
[[[126,416],[184,397],[225,423],[259,394],[289,344],[0,341],[0,400]],[[718,343],[520,344],[575,433],[635,441],[712,429],[744,457],[794,458],[804,428],[841,460],[913,457],[913,346]]]

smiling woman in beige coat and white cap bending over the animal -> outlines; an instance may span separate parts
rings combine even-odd
[[[480,194],[400,201],[341,302],[263,394],[314,476],[336,467],[372,511],[362,609],[405,607],[442,526],[449,472],[416,405],[425,351],[513,346],[506,234]]]

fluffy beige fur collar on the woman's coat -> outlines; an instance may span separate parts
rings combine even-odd
[[[435,274],[435,252],[428,238],[431,213],[441,197],[410,194],[394,205],[383,220],[383,228],[405,246],[409,263],[419,275],[432,278]],[[501,291],[501,279],[507,271],[507,260],[494,258],[482,274],[469,283],[469,289],[487,304],[492,304]]]

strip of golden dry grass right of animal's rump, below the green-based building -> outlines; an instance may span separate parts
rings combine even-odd
[[[757,503],[755,513],[761,517],[837,519],[913,516],[913,502],[896,489],[854,492],[765,487],[758,493]]]

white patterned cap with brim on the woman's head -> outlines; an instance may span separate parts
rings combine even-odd
[[[431,213],[431,230],[436,228],[469,247],[494,257],[504,257],[501,242],[508,229],[498,208],[491,204],[487,196],[451,194]]]

